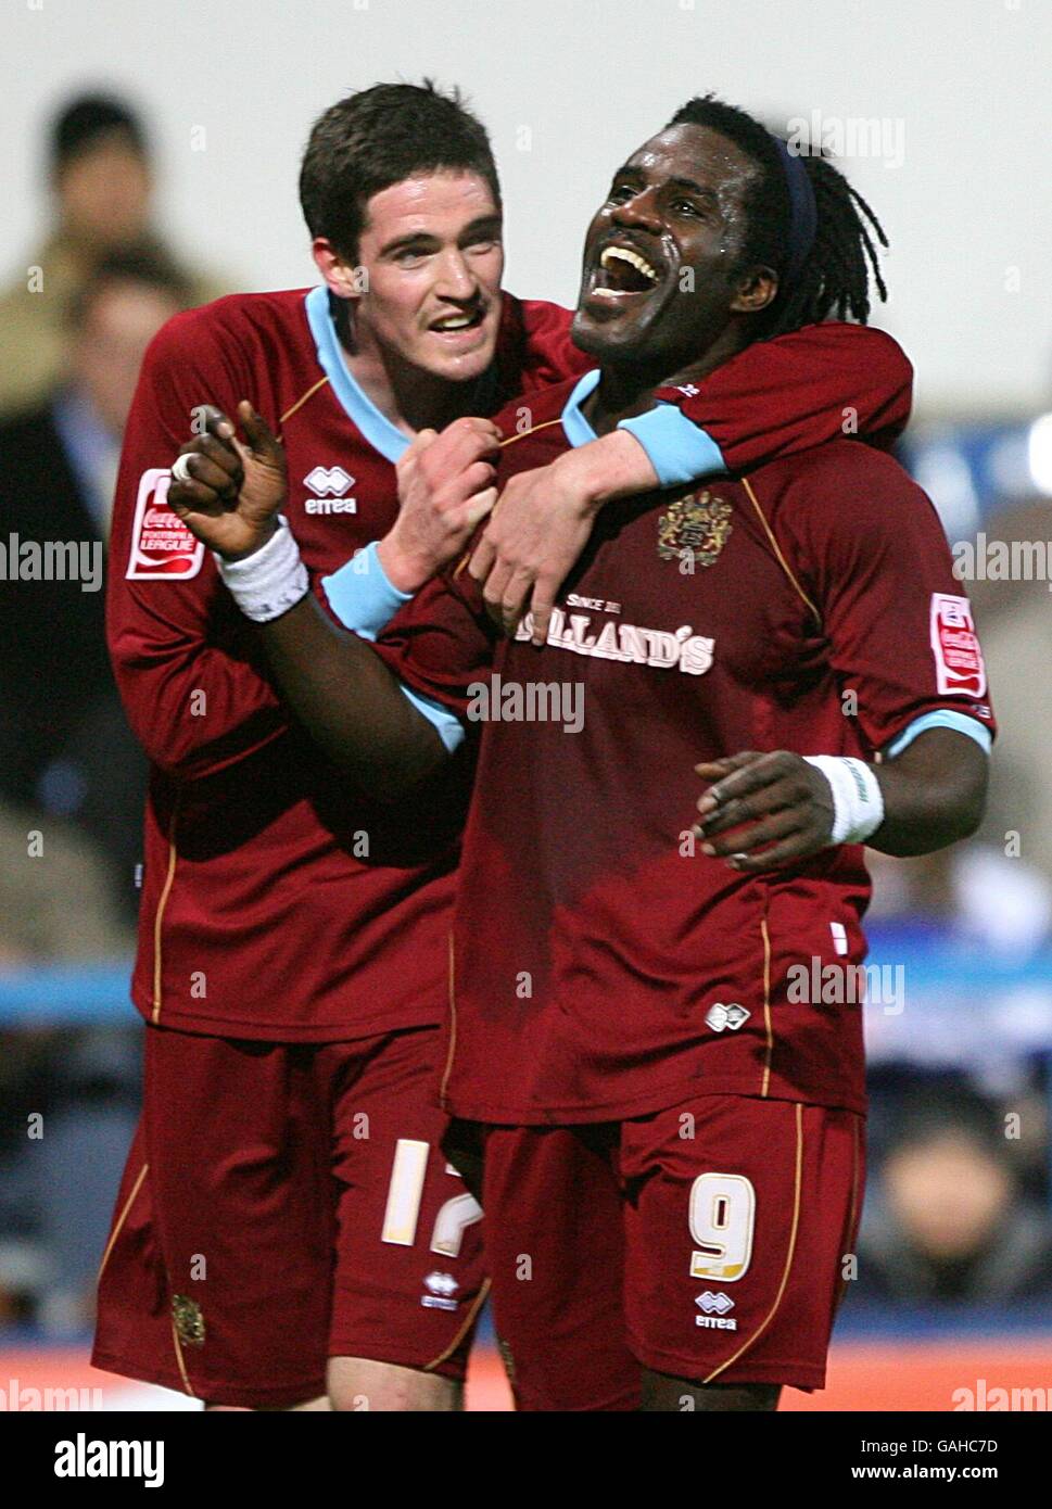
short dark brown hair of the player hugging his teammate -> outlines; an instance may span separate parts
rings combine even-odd
[[[374,85],[318,116],[303,154],[299,202],[311,235],[343,257],[358,255],[365,205],[374,193],[420,172],[474,172],[500,208],[501,187],[486,127],[459,89]]]

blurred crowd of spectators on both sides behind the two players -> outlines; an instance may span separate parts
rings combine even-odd
[[[158,234],[149,136],[127,103],[92,94],[57,113],[48,189],[51,223],[0,296],[0,542],[80,542],[101,561],[146,344],[177,311],[232,288],[186,266]],[[1019,436],[1035,418],[1020,416]],[[943,512],[933,456],[951,498],[960,466],[948,465],[945,436],[903,453]],[[954,507],[943,512],[951,540]],[[1052,552],[1052,499],[1025,468],[974,486],[969,507],[970,534],[1043,540]],[[130,1005],[116,1026],[15,1029],[3,1013],[5,979],[131,952],[145,764],[109,668],[101,575],[85,585],[8,579],[2,592],[0,1335],[89,1322],[137,1111]],[[907,862],[871,856],[872,930],[884,958],[897,937],[921,933],[948,961],[1032,964],[1032,1031],[996,1055],[996,1073],[972,1026],[943,1061],[931,1049],[877,1056],[848,1314],[1052,1304],[1049,581],[978,579],[967,590],[1002,730],[989,816],[972,844]],[[924,1040],[922,1011],[910,1034]]]

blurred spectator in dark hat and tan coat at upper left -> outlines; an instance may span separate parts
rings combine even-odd
[[[151,229],[152,169],[139,118],[119,100],[83,95],[51,127],[54,228],[0,296],[0,413],[41,404],[66,371],[66,311],[100,260],[127,246],[168,255]],[[190,305],[226,291],[187,273]]]

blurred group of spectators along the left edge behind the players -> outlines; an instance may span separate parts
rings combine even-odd
[[[110,506],[146,346],[231,291],[155,229],[127,103],[69,101],[47,158],[51,223],[0,294],[0,981],[130,957],[146,770],[106,653]],[[88,573],[12,579],[23,545],[56,540]],[[137,1097],[130,1007],[125,1025],[20,1031],[0,1010],[0,1329],[88,1322]]]

